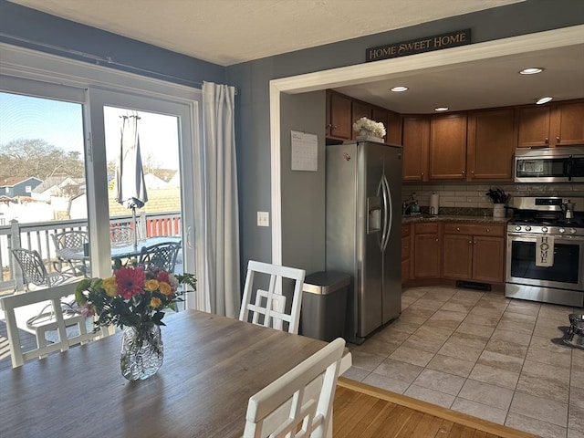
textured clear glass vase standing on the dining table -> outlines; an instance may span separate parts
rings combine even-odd
[[[156,374],[164,360],[160,326],[126,327],[121,337],[121,375],[129,381],[143,381]]]

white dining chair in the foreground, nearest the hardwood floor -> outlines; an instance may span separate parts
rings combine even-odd
[[[256,392],[247,403],[244,438],[325,438],[345,339],[337,338]]]

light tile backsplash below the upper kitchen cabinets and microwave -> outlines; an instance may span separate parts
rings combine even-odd
[[[411,199],[412,193],[422,207],[422,213],[430,205],[430,196],[440,196],[441,214],[485,214],[493,210],[489,189],[501,189],[511,196],[566,196],[584,197],[584,184],[514,184],[514,183],[403,183],[401,199]]]

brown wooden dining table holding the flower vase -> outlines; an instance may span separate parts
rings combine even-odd
[[[120,372],[120,333],[0,372],[0,436],[241,437],[247,401],[326,342],[187,309],[165,316],[164,362]]]

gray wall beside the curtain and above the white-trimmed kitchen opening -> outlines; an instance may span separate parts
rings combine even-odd
[[[304,73],[361,64],[367,47],[406,41],[421,36],[432,36],[457,29],[471,28],[473,43],[541,32],[584,23],[584,1],[581,0],[527,0],[527,2],[497,7],[485,11],[454,16],[439,21],[411,26],[391,32],[312,47],[275,57],[267,57],[227,68],[227,82],[239,91],[237,149],[240,179],[242,266],[247,260],[271,261],[271,240],[265,229],[255,225],[257,211],[270,209],[270,136],[269,136],[269,81]],[[336,26],[336,24],[329,24]],[[342,26],[339,23],[337,26]],[[293,37],[293,36],[291,36]],[[305,109],[298,109],[299,111]],[[318,135],[324,135],[324,123]],[[284,134],[283,134],[284,135]],[[284,180],[283,180],[284,184]],[[287,192],[286,186],[281,187]],[[310,190],[319,190],[311,187]],[[324,187],[323,189],[324,190]],[[298,193],[299,194],[299,193]],[[290,203],[283,196],[283,211]],[[320,220],[315,217],[315,223]],[[288,230],[287,227],[294,227]],[[301,224],[300,226],[304,226]],[[283,224],[284,236],[296,235],[301,230],[296,224]],[[283,260],[304,260],[308,248],[287,248],[283,240]],[[296,252],[294,256],[290,253]],[[316,265],[315,265],[316,266]]]

